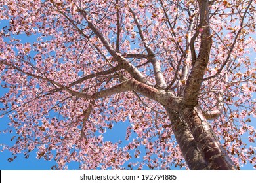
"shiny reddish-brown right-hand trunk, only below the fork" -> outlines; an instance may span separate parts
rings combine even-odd
[[[211,125],[203,116],[202,111],[196,107],[186,107],[182,110],[181,116],[188,124],[208,169],[236,169],[221,142],[215,136]]]

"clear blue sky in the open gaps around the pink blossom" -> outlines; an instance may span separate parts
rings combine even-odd
[[[0,22],[0,29],[7,24],[8,24],[7,21]],[[24,42],[35,41],[35,37],[26,37],[25,35],[19,35],[17,38],[23,39]],[[8,89],[0,88],[0,96],[2,96],[5,92],[7,92],[7,90]],[[2,107],[1,104],[0,104],[0,107]],[[254,124],[254,127],[256,127],[255,122],[256,120],[255,118],[253,118],[251,121],[251,124]],[[8,123],[9,123],[9,120],[7,116],[0,118],[0,131],[3,129],[6,129],[8,127],[7,125]],[[104,140],[116,142],[120,139],[121,141],[125,142],[125,133],[128,125],[130,125],[129,122],[118,122],[117,124],[114,125],[114,128],[111,131],[108,131],[106,133],[106,136],[104,136]],[[113,131],[114,131],[114,135],[113,135]],[[0,133],[0,150],[3,144],[11,145],[14,143],[10,141],[12,136],[14,136],[13,133],[12,134]],[[245,141],[247,141],[247,139],[245,139]],[[53,165],[55,165],[55,162],[53,160],[45,161],[43,160],[43,158],[36,159],[35,151],[30,154],[30,158],[28,159],[25,159],[23,154],[18,154],[17,158],[14,159],[14,161],[12,162],[7,161],[7,159],[11,157],[12,157],[12,154],[8,150],[4,150],[3,152],[0,152],[0,169],[19,169],[19,170],[39,169],[41,170],[41,169],[50,169]],[[76,163],[76,162],[70,163],[70,165],[68,166],[70,169],[79,169],[79,163]],[[244,165],[242,169],[253,169],[253,165],[250,165],[250,164]]]

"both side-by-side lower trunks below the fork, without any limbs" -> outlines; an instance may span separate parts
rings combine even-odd
[[[232,170],[234,163],[198,108],[184,108],[181,114],[167,108],[171,127],[190,169]]]

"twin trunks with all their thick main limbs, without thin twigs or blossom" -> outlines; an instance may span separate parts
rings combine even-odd
[[[157,87],[154,87],[154,84],[150,83],[146,79],[146,76],[140,73],[136,67],[112,47],[110,42],[108,42],[108,39],[106,39],[96,26],[93,25],[91,20],[87,18],[87,12],[85,10],[79,10],[85,20],[87,20],[89,28],[100,39],[106,50],[108,50],[110,55],[116,59],[119,65],[121,65],[121,68],[125,69],[133,78],[127,79],[112,88],[96,92],[89,97],[98,99],[115,93],[135,91],[145,97],[154,99],[166,108],[177,143],[179,144],[184,159],[190,169],[235,169],[234,163],[232,163],[223,146],[221,146],[221,143],[217,137],[215,137],[213,130],[208,124],[205,116],[203,116],[202,111],[196,108],[198,106],[203,77],[209,62],[213,36],[211,35],[209,22],[209,0],[198,0],[198,5],[200,21],[198,22],[196,32],[190,41],[192,69],[186,80],[186,86],[184,88],[184,93],[182,93],[182,97],[180,97],[180,95],[178,97],[177,95],[174,95],[174,93],[166,90],[168,87],[163,78],[163,74],[161,73],[160,63],[155,58],[154,52],[146,43],[144,43],[144,47],[148,52],[146,58],[154,67]],[[144,41],[144,35],[136,14],[133,12],[132,8],[130,8],[130,10],[133,13],[140,38]],[[83,33],[81,34],[83,35]],[[198,56],[196,56],[194,44],[199,35],[200,48]],[[96,45],[95,48],[98,50]],[[186,76],[188,75],[188,71],[183,72],[183,75],[184,73],[186,73]],[[159,90],[160,88],[165,90]]]

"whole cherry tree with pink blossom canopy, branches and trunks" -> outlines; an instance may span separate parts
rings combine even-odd
[[[1,150],[52,169],[256,168],[255,4],[0,1]],[[125,141],[104,139],[117,123]]]

